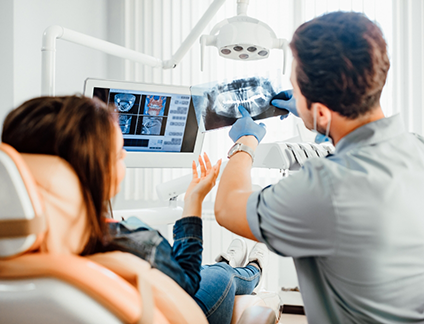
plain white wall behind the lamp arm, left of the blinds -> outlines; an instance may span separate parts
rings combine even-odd
[[[2,0],[0,84],[4,116],[23,101],[40,95],[41,38],[50,25],[107,39],[109,1]],[[79,45],[57,42],[56,93],[82,92],[87,77],[106,78],[107,55]]]

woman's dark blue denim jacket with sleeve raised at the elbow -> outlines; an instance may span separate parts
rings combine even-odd
[[[174,245],[136,217],[109,223],[110,238],[102,252],[132,253],[177,282],[190,296],[199,289],[202,263],[202,219],[186,217],[174,225]],[[100,251],[97,251],[100,252]]]

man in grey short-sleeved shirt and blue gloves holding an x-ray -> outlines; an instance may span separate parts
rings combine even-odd
[[[383,115],[382,32],[362,14],[334,12],[301,25],[290,47],[293,92],[272,104],[336,152],[252,192],[265,129],[241,107],[217,221],[293,257],[309,324],[424,323],[424,141]]]

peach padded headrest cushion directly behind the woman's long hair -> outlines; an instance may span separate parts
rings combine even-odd
[[[45,205],[47,231],[40,251],[79,254],[90,232],[80,181],[68,162],[58,156],[21,154]]]

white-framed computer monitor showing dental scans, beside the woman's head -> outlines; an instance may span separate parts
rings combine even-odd
[[[117,111],[129,168],[189,168],[200,154],[189,87],[87,79],[84,95]]]

